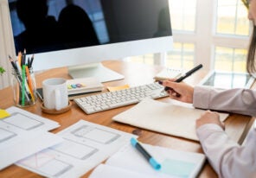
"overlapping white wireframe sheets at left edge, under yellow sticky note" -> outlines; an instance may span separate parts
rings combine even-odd
[[[7,111],[10,115],[0,120],[0,169],[63,141],[48,132],[59,126],[56,122],[16,107]]]

